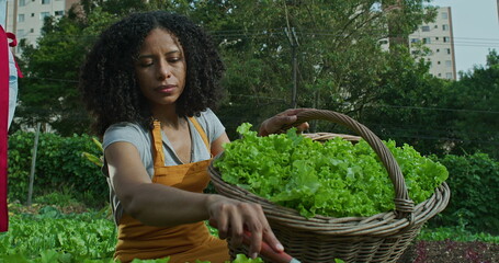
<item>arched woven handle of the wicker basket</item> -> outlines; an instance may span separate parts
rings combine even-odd
[[[297,121],[294,125],[305,123],[311,119],[325,119],[332,123],[343,125],[353,132],[358,133],[362,138],[364,138],[367,144],[373,148],[376,155],[379,157],[383,165],[385,165],[388,171],[388,175],[392,180],[392,183],[395,186],[395,209],[397,211],[398,218],[407,217],[409,222],[413,222],[413,210],[415,203],[409,198],[407,192],[406,182],[404,175],[398,167],[397,161],[395,160],[392,152],[383,144],[383,141],[367,127],[358,123],[353,118],[332,111],[326,110],[306,110],[297,114]],[[291,127],[291,126],[290,126]]]

